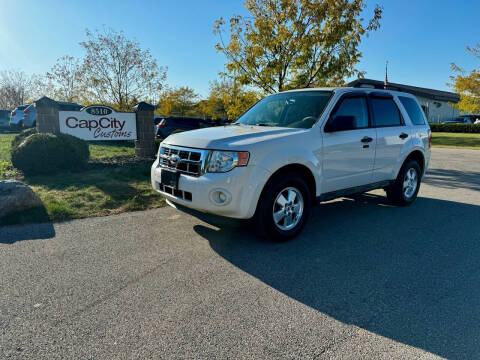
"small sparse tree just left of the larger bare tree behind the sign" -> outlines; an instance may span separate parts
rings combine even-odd
[[[62,56],[57,59],[47,80],[53,88],[53,98],[59,101],[79,102],[83,97],[83,68],[80,60],[73,56]]]

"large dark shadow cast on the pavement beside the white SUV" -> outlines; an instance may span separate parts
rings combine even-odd
[[[457,185],[458,186],[458,185]],[[360,195],[317,206],[287,243],[195,231],[233,265],[343,323],[447,358],[480,358],[480,207]]]

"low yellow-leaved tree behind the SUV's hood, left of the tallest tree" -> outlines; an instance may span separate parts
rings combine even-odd
[[[260,99],[260,94],[245,90],[238,83],[224,79],[210,84],[208,98],[199,103],[199,111],[213,119],[237,119]]]

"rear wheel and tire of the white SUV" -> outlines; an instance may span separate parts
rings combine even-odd
[[[395,183],[385,189],[388,200],[398,206],[409,206],[417,198],[420,190],[421,171],[415,160],[405,162]]]

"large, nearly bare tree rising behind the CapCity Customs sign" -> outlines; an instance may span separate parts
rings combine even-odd
[[[134,99],[156,102],[166,78],[166,68],[159,67],[149,50],[123,32],[104,29],[86,31],[83,73],[89,96],[99,103],[130,110]]]

